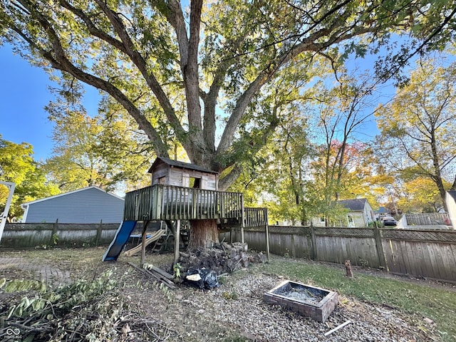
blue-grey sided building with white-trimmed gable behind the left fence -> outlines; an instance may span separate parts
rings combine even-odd
[[[22,204],[22,222],[120,223],[123,206],[122,197],[100,187],[84,187]]]

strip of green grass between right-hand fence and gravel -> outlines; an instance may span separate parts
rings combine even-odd
[[[433,286],[425,281],[413,282],[356,272],[345,276],[343,266],[314,264],[293,259],[272,259],[259,266],[264,273],[276,274],[305,284],[336,291],[374,304],[392,306],[400,311],[432,319],[442,341],[456,341],[456,289]]]

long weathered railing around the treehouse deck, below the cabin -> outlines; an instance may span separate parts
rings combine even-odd
[[[125,195],[124,221],[242,217],[242,194],[152,185]]]

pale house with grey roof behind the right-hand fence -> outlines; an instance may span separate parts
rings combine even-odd
[[[339,223],[343,227],[368,227],[375,220],[375,213],[366,198],[343,199],[338,201],[338,205],[349,210]],[[325,227],[326,220],[324,217],[314,218],[312,224],[314,227]]]

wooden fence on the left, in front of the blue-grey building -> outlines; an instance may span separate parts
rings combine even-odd
[[[0,249],[108,245],[119,224],[7,223]]]

